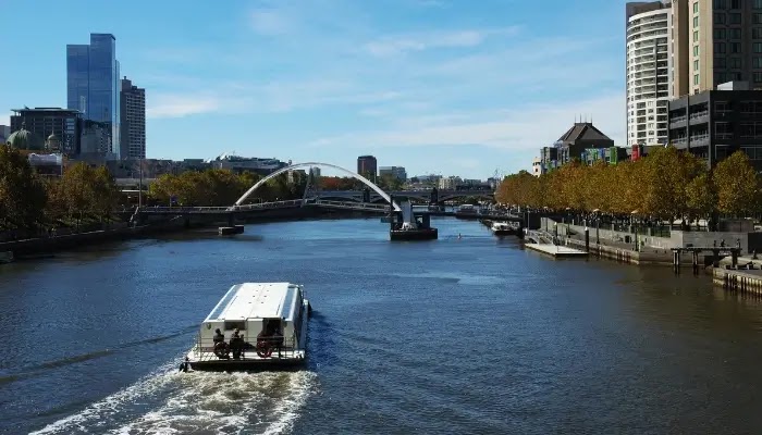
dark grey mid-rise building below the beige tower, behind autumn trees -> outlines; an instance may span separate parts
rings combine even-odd
[[[669,141],[709,166],[741,150],[762,170],[762,91],[728,83],[669,101]]]

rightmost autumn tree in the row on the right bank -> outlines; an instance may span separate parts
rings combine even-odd
[[[713,177],[720,212],[747,216],[757,209],[759,183],[745,152],[736,151],[717,163]]]

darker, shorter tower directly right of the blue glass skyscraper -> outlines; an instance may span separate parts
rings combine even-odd
[[[120,158],[146,158],[146,89],[124,77],[120,96]]]

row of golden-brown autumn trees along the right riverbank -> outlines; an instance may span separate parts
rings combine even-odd
[[[759,192],[760,178],[741,151],[709,170],[702,159],[666,147],[634,162],[573,161],[539,177],[521,171],[503,179],[495,199],[555,211],[692,221],[714,213],[749,216],[759,210]]]

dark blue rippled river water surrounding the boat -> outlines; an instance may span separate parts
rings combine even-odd
[[[760,301],[434,226],[262,224],[2,265],[0,432],[762,433]],[[245,281],[306,286],[306,370],[177,373]]]

